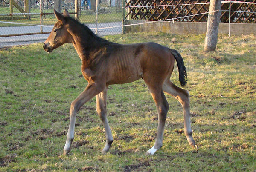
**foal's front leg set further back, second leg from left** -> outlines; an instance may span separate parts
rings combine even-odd
[[[102,153],[107,152],[113,142],[112,133],[111,133],[111,130],[110,130],[110,127],[108,124],[108,119],[106,117],[106,115],[107,115],[107,91],[108,91],[108,88],[106,88],[103,92],[96,95],[97,112],[99,114],[99,118],[102,120],[102,123],[104,125],[105,135],[106,135],[106,144],[102,150]]]

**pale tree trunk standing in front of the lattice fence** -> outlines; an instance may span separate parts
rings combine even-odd
[[[204,43],[204,51],[215,51],[218,38],[218,26],[221,17],[221,0],[211,0],[208,20],[207,20],[207,31]]]

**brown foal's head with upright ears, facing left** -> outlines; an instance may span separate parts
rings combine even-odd
[[[52,50],[58,48],[64,43],[71,42],[71,35],[67,31],[67,20],[70,17],[68,11],[65,9],[63,15],[58,13],[54,9],[54,14],[58,21],[55,23],[51,34],[44,42],[44,50],[47,52],[52,52]]]

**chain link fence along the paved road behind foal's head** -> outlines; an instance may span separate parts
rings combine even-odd
[[[54,0],[41,0],[41,6],[40,0],[0,0],[0,47],[43,42],[57,19],[53,14]],[[94,32],[97,29],[99,36],[122,34],[122,0],[98,0],[97,25],[96,0],[62,0],[63,9],[73,17],[77,14],[79,21]]]

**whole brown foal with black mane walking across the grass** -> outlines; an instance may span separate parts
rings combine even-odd
[[[113,137],[108,124],[107,90],[111,84],[130,83],[143,79],[150,91],[158,112],[157,138],[147,151],[153,155],[163,145],[163,130],[169,104],[164,92],[175,97],[183,106],[185,134],[189,145],[197,147],[192,138],[189,110],[189,92],[170,81],[175,60],[179,69],[179,80],[186,85],[186,68],[180,54],[157,43],[122,45],[98,37],[87,26],[70,17],[67,10],[60,14],[54,10],[58,22],[44,42],[44,50],[52,52],[64,43],[73,43],[79,55],[81,71],[88,81],[85,90],[71,103],[70,124],[64,155],[70,152],[74,138],[76,114],[87,101],[96,96],[97,113],[105,127],[106,144],[102,152],[109,150]]]

